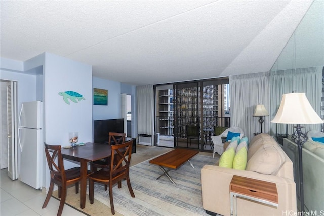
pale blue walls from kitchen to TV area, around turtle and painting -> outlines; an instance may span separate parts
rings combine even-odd
[[[132,95],[132,112],[136,113],[134,86],[92,77],[91,65],[54,54],[43,53],[25,62],[1,58],[0,79],[18,82],[18,110],[22,102],[43,101],[44,142],[49,144],[70,145],[68,133],[74,131],[79,132],[79,142],[92,142],[93,120],[120,118],[121,93]],[[108,106],[93,105],[93,88],[108,90]],[[65,91],[78,92],[86,100],[68,105],[58,94]],[[137,136],[136,122],[132,115],[132,137]],[[65,168],[76,164],[65,162]],[[43,187],[48,188],[45,158],[42,165]]]

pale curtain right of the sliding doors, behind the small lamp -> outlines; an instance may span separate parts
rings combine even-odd
[[[259,117],[252,116],[255,106],[264,104],[270,109],[269,72],[242,74],[229,77],[231,100],[231,126],[243,129],[245,136],[252,139],[253,133],[261,132]],[[263,117],[263,133],[270,128],[269,116]]]

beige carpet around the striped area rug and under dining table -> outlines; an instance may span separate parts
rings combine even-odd
[[[144,145],[137,145],[136,146],[136,153],[132,154],[131,159],[131,166],[134,166],[140,162],[148,160],[152,157],[156,157],[160,154],[164,154],[168,151],[173,150],[172,148],[164,148],[164,147],[157,147],[157,146],[144,146]],[[207,152],[200,152],[199,154],[203,155],[212,155],[212,153]],[[131,180],[132,181],[132,180]],[[58,191],[53,192],[53,196],[58,196]],[[86,198],[86,207],[84,209],[80,208],[80,195],[75,194],[75,188],[72,186],[68,188],[66,203],[86,214],[99,216],[99,215],[112,215],[110,207],[101,203],[98,200],[95,200],[93,204],[90,204],[89,196],[87,195]],[[115,207],[115,215],[123,215],[118,212],[118,209]]]

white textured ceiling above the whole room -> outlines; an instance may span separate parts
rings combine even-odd
[[[49,52],[134,85],[269,71],[312,2],[1,0],[0,55]]]

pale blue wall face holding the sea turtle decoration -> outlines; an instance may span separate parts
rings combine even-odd
[[[46,53],[44,65],[45,139],[49,144],[70,145],[69,132],[78,142],[92,142],[91,65]],[[59,92],[74,91],[86,100],[66,104]]]

